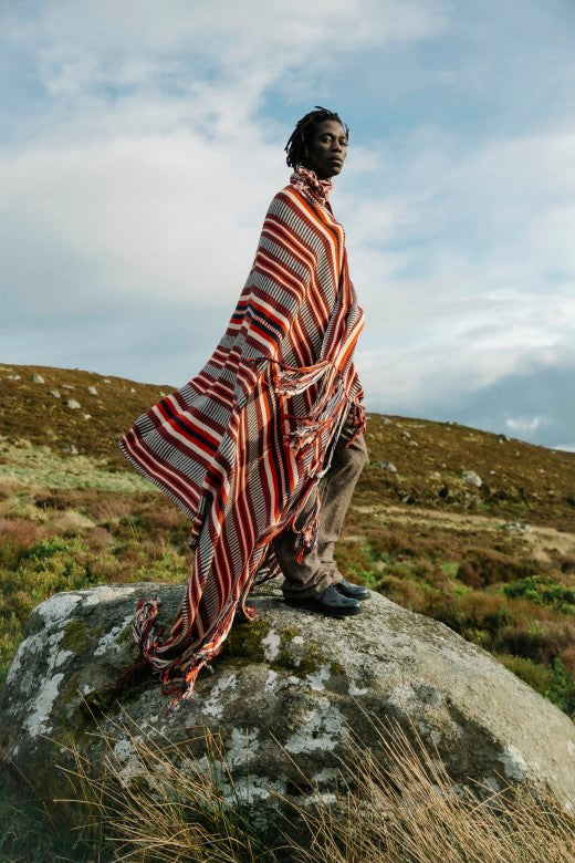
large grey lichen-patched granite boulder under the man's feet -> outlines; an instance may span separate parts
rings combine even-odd
[[[253,596],[257,621],[233,627],[212,673],[202,672],[190,701],[167,718],[147,668],[119,675],[137,658],[135,599],[158,595],[169,622],[181,590],[101,586],[34,610],[0,698],[0,744],[20,787],[70,797],[56,768],[72,766],[75,741],[97,772],[98,729],[115,741],[107,757],[126,782],[144,771],[135,729],[148,740],[188,740],[190,757],[205,760],[200,726],[221,735],[236,799],[257,801],[263,817],[282,798],[333,800],[352,729],[377,749],[375,717],[437,748],[461,787],[546,788],[562,807],[575,805],[573,722],[482,649],[379,595],[357,617],[332,620],[289,607],[265,585]]]

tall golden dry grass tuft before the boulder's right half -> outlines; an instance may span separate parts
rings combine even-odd
[[[343,767],[354,790],[336,808],[302,812],[313,839],[294,849],[296,863],[575,860],[575,819],[551,797],[456,787],[417,735],[414,746],[398,725],[374,722],[374,729],[384,759],[351,746]]]

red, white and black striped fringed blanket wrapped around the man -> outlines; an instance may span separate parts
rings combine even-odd
[[[352,406],[364,427],[353,352],[363,311],[347,272],[330,180],[299,168],[272,200],[229,326],[201,372],[143,414],[119,441],[129,461],[191,519],[194,561],[169,633],[157,600],[138,602],[134,635],[172,705],[189,697],[260,568],[330,465]],[[317,507],[297,541],[313,545]]]

